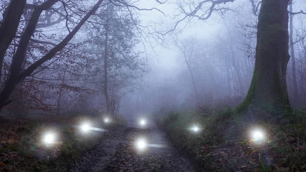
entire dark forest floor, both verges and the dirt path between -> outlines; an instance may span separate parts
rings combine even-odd
[[[230,108],[171,112],[147,128],[135,121],[125,126],[122,120],[106,126],[84,117],[2,119],[0,171],[306,171],[306,112],[264,115],[270,120],[243,122]],[[107,132],[80,133],[76,126],[84,120]],[[190,130],[193,125],[198,132]],[[51,128],[60,134],[46,146],[42,134]],[[256,128],[264,132],[264,141],[250,138]],[[142,151],[136,148],[139,138],[148,143]]]

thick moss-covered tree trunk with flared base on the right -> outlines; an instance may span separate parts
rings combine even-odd
[[[253,78],[244,102],[236,114],[251,107],[276,110],[289,105],[286,70],[289,61],[289,0],[263,0],[258,18],[256,60]]]

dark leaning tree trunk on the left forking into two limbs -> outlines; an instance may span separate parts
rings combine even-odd
[[[52,7],[52,5],[55,4],[56,2],[58,2],[58,0],[49,0],[43,3],[42,5],[35,7],[32,13],[32,17],[29,21],[29,25],[20,39],[20,43],[18,46],[19,51],[17,50],[15,56],[12,59],[10,76],[7,82],[5,83],[3,90],[0,93],[0,109],[6,106],[9,102],[11,102],[9,101],[9,97],[11,96],[17,83],[21,81],[23,78],[29,77],[37,67],[39,67],[47,60],[52,59],[59,51],[61,51],[62,48],[64,48],[67,45],[67,43],[73,38],[73,36],[80,30],[80,28],[87,21],[87,19],[99,8],[103,0],[99,0],[92,7],[92,9],[81,19],[81,21],[77,24],[77,26],[57,46],[52,48],[52,50],[50,50],[45,56],[34,62],[27,69],[25,69],[20,73],[25,52],[27,51],[27,45],[35,30],[41,12],[45,9]]]

